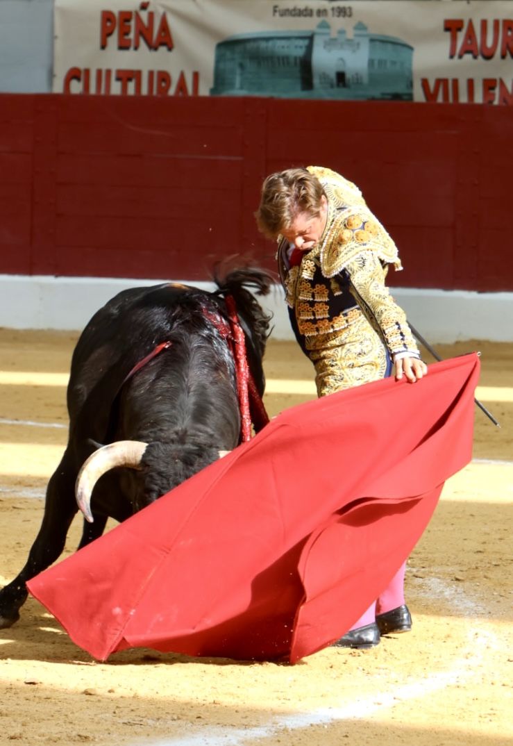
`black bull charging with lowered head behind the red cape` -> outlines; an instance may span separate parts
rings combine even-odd
[[[0,627],[19,618],[25,582],[62,553],[78,512],[75,480],[100,445],[135,441],[143,450],[136,468],[118,463],[95,483],[94,521],[84,521],[79,548],[101,536],[109,517],[124,521],[239,444],[235,364],[215,319],[226,325],[224,295],[231,295],[262,395],[269,317],[249,288],[265,295],[271,277],[245,268],[215,281],[212,293],[173,283],[125,290],[86,325],[72,356],[68,445],[48,482],[43,522],[25,567],[0,591]],[[166,349],[130,374],[162,342],[169,343]]]

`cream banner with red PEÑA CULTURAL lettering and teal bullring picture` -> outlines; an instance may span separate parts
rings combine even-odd
[[[513,103],[511,0],[54,8],[54,93]]]

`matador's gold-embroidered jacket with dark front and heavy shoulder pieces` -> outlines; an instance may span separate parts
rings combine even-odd
[[[387,265],[402,269],[396,245],[355,184],[330,169],[308,170],[327,195],[326,228],[318,244],[305,251],[300,266],[289,269],[289,244],[282,236],[277,251],[292,325],[303,351],[314,360],[312,351],[320,348],[361,346],[362,335],[372,333],[370,324],[392,356],[418,356],[406,315],[385,286]]]

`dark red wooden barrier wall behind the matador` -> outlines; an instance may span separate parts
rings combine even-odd
[[[330,166],[400,248],[392,284],[513,289],[510,107],[0,95],[0,273],[204,280],[274,268],[269,172]]]

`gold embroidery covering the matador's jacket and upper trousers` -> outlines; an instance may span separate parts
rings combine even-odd
[[[327,225],[300,266],[282,276],[287,303],[295,307],[299,333],[315,366],[318,394],[325,395],[383,377],[387,347],[394,354],[416,352],[417,346],[384,283],[388,267],[383,269],[382,262],[401,269],[393,240],[354,184],[330,169],[309,166],[309,171],[327,194]],[[326,283],[319,282],[317,268]],[[358,305],[330,318],[330,299],[343,292],[337,277],[343,269]]]

